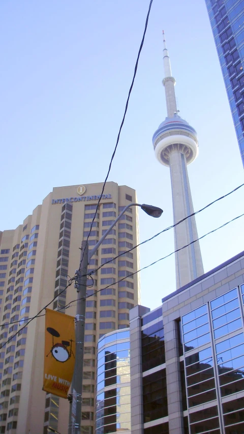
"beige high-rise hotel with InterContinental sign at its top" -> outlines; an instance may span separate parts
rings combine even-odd
[[[45,316],[5,343],[54,296],[50,308],[63,308],[75,316],[74,284],[58,294],[79,267],[79,247],[87,238],[102,186],[54,188],[23,224],[0,232],[0,346],[4,345],[0,351],[0,433],[47,434],[48,427],[61,434],[68,431],[69,401],[42,390]],[[135,190],[106,184],[89,249],[130,202],[136,202]],[[123,215],[91,259],[89,269],[138,244],[137,210],[131,207]],[[137,249],[126,252],[97,271],[94,286],[87,287],[87,295],[94,295],[86,301],[82,434],[93,434],[96,342],[104,333],[129,327],[129,310],[140,303],[140,291],[138,274],[128,275],[139,269],[138,261]],[[127,278],[117,283],[123,277]],[[87,285],[91,284],[88,279]],[[71,307],[64,310],[69,302]]]

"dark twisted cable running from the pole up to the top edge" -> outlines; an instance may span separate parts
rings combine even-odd
[[[111,160],[110,160],[110,163],[109,163],[108,172],[107,172],[107,175],[106,175],[106,178],[105,178],[104,184],[103,184],[102,192],[101,192],[100,198],[99,198],[99,200],[98,200],[98,204],[97,204],[97,208],[96,208],[96,211],[95,211],[95,214],[94,214],[94,217],[93,217],[93,221],[92,221],[92,223],[91,223],[91,225],[90,225],[90,230],[89,230],[89,233],[88,233],[88,236],[87,236],[87,239],[86,239],[85,247],[86,247],[86,245],[87,245],[88,238],[89,238],[89,236],[90,236],[90,232],[91,232],[91,230],[92,230],[93,223],[94,223],[94,220],[95,220],[95,218],[96,218],[96,214],[97,214],[97,212],[98,212],[99,204],[100,204],[100,201],[101,201],[101,198],[102,198],[102,195],[103,195],[104,189],[105,189],[105,184],[106,184],[106,182],[107,182],[107,179],[108,179],[108,176],[109,176],[109,173],[110,173],[110,170],[111,170],[112,161],[113,161],[113,158],[114,158],[115,152],[116,152],[116,150],[117,150],[117,146],[118,146],[118,142],[119,142],[119,138],[120,138],[120,133],[121,133],[122,127],[123,127],[124,122],[125,122],[126,113],[127,113],[127,109],[128,109],[128,105],[129,105],[129,100],[130,100],[131,92],[132,92],[132,89],[133,89],[134,81],[135,81],[135,78],[136,78],[136,72],[137,72],[137,67],[138,67],[138,63],[139,63],[139,58],[140,58],[141,50],[142,50],[142,47],[143,47],[143,44],[144,44],[144,39],[145,39],[145,34],[146,34],[146,29],[147,29],[147,24],[148,24],[148,19],[149,19],[149,15],[150,15],[150,10],[151,10],[151,5],[152,5],[152,3],[153,3],[153,0],[150,0],[149,8],[148,8],[147,16],[146,16],[146,21],[145,21],[145,26],[144,26],[144,32],[143,32],[143,36],[142,36],[142,40],[141,40],[141,44],[140,44],[140,48],[139,48],[139,51],[138,51],[138,54],[137,54],[136,64],[135,64],[135,68],[134,68],[134,74],[133,74],[133,78],[132,78],[132,82],[131,82],[130,90],[129,90],[128,97],[127,97],[127,101],[126,101],[126,106],[125,106],[124,115],[123,115],[123,118],[122,118],[122,121],[121,121],[121,124],[120,124],[120,127],[119,127],[119,131],[118,131],[118,135],[117,135],[117,140],[116,140],[115,148],[114,148],[114,151],[113,151],[113,153],[112,153],[112,157],[111,157]],[[85,251],[85,248],[84,248],[84,250],[83,250],[83,255],[82,255],[81,260],[80,260],[79,270],[80,270],[80,267],[81,267],[81,262],[82,262],[82,260],[83,260],[84,251]]]

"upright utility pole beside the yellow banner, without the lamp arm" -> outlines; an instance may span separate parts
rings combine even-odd
[[[88,266],[88,242],[81,243],[81,264],[78,272],[77,284],[77,309],[75,316],[75,371],[71,386],[73,402],[70,404],[69,434],[80,434],[81,407],[82,407],[82,383],[84,361],[84,336],[85,336],[85,302],[86,279]],[[83,276],[83,277],[80,277]]]

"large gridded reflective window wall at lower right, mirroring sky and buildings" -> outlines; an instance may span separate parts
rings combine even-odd
[[[191,434],[244,432],[244,284],[181,317]]]

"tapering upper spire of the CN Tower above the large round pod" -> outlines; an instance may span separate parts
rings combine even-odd
[[[165,33],[163,30],[163,62],[164,62],[164,79],[162,81],[165,89],[166,107],[168,118],[173,118],[177,113],[176,98],[174,92],[175,78],[172,77],[169,53],[166,48]]]

